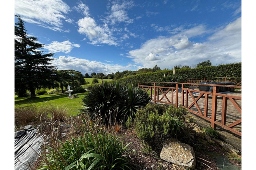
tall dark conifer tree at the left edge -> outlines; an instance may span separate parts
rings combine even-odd
[[[15,91],[29,90],[31,98],[34,98],[37,88],[54,82],[56,67],[50,63],[54,54],[43,54],[40,49],[44,45],[36,37],[28,37],[24,21],[15,16],[18,18],[15,23]]]

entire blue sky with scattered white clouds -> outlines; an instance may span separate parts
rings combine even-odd
[[[241,61],[241,0],[15,0],[15,14],[55,53],[58,69],[115,73]]]

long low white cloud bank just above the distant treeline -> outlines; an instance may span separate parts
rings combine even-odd
[[[107,61],[106,61],[107,62]],[[117,71],[136,70],[137,66],[128,64],[121,66],[119,64],[102,63],[99,61],[89,61],[71,56],[59,56],[59,58],[52,61],[53,66],[57,66],[60,70],[74,69],[80,71],[82,74],[91,72],[103,72],[106,74],[115,73]]]

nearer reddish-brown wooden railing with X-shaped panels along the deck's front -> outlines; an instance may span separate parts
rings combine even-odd
[[[138,88],[143,88],[145,91],[149,91],[151,95],[151,100],[156,103],[165,103],[165,104],[173,104],[176,107],[180,105],[188,109],[188,111],[192,112],[193,114],[198,115],[199,117],[208,120],[211,122],[211,127],[215,129],[216,125],[223,127],[237,135],[242,135],[242,133],[234,129],[237,125],[241,124],[241,106],[238,104],[237,100],[241,101],[241,96],[235,95],[224,95],[221,93],[217,93],[219,87],[235,87],[235,88],[242,88],[241,86],[234,86],[234,85],[211,85],[213,86],[213,91],[199,91],[188,89],[185,87],[188,86],[198,86],[198,85],[207,85],[207,84],[198,84],[198,83],[167,83],[167,82],[137,82]],[[159,86],[162,85],[162,86]],[[169,86],[169,87],[168,87]],[[173,87],[170,87],[173,86]],[[181,87],[181,95],[179,97],[178,88]],[[199,96],[195,98],[192,93],[198,92]],[[161,93],[161,95],[160,95]],[[204,101],[199,100],[202,99],[204,96]],[[219,97],[219,98],[218,98]],[[222,98],[221,98],[222,97]],[[165,99],[165,101],[163,101]],[[222,100],[222,101],[221,101]],[[227,107],[227,101],[229,100],[229,105]],[[217,102],[219,101],[219,103]],[[211,106],[209,106],[209,103]],[[231,106],[230,106],[231,105]],[[195,107],[193,107],[195,106]],[[218,107],[218,119],[216,120],[217,116],[217,106]],[[228,109],[227,109],[228,108]],[[203,109],[203,111],[202,111]],[[208,113],[208,110],[211,109],[211,112]],[[210,114],[210,115],[209,115]],[[227,123],[227,114],[232,117],[232,119],[228,118],[228,125]],[[236,114],[236,115],[235,115]],[[238,120],[234,119],[237,118]],[[240,127],[239,127],[240,128]]]

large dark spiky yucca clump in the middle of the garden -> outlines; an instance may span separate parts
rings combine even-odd
[[[123,119],[128,116],[134,118],[139,107],[146,106],[150,101],[149,95],[143,89],[124,85],[119,82],[103,82],[93,87],[84,95],[83,106],[88,107],[87,112],[94,120],[102,117],[103,122]],[[113,110],[118,110],[116,117]]]

